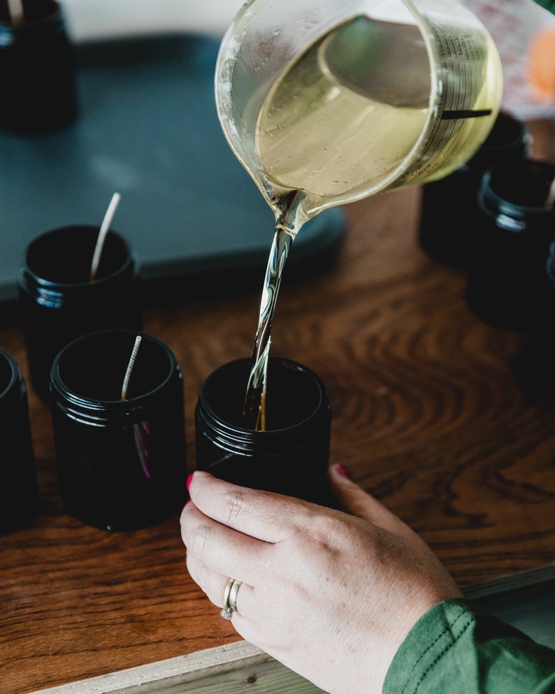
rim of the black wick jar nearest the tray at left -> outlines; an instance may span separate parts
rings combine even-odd
[[[75,244],[78,234],[82,235],[82,243]],[[94,301],[97,301],[99,291],[104,288],[106,291],[111,291],[110,288],[119,280],[127,282],[127,279],[135,274],[136,268],[134,252],[131,250],[129,243],[127,243],[127,240],[121,236],[120,233],[110,229],[106,234],[104,247],[105,250],[110,250],[110,247],[112,247],[117,254],[117,262],[108,266],[108,272],[101,273],[99,271],[99,274],[94,277],[94,280],[87,282],[86,277],[89,266],[85,265],[85,259],[88,259],[89,263],[92,263],[94,246],[96,245],[98,234],[98,226],[92,224],[69,224],[66,226],[59,226],[56,229],[50,229],[36,236],[36,238],[31,240],[31,243],[29,243],[24,252],[17,273],[18,284],[22,289],[31,294],[31,296],[36,296],[39,303],[57,304],[64,301],[71,301],[71,296],[75,293],[78,293],[82,298],[87,296],[87,294],[92,294],[94,296]],[[62,279],[56,279],[55,275],[59,273],[59,270],[52,270],[49,267],[47,271],[43,271],[41,268],[41,262],[45,259],[43,247],[45,245],[53,245],[55,250],[59,251],[58,262],[60,265],[62,265],[62,263],[71,263],[73,259],[72,254],[68,253],[68,240],[71,240],[73,245],[79,247],[81,251],[83,250],[82,245],[85,244],[87,246],[87,254],[85,256],[83,253],[83,256],[79,257],[81,267],[73,278],[68,279],[67,277],[63,277]],[[48,258],[48,263],[51,263],[50,254],[46,254],[46,257]],[[101,255],[100,268],[103,267],[102,263],[103,256]],[[52,266],[55,267],[55,263],[52,263]],[[52,272],[52,275],[50,275],[52,279],[45,277],[45,275],[48,275],[48,272]],[[62,274],[63,273],[60,273],[57,276],[62,277]]]

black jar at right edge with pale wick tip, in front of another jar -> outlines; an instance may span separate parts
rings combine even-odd
[[[534,159],[505,161],[484,174],[480,247],[466,300],[493,327],[535,332],[553,320],[547,270],[555,239],[555,208],[548,200],[554,179],[555,164]]]

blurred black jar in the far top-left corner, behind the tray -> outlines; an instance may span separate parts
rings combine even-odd
[[[62,6],[22,0],[22,7],[20,21],[0,8],[0,128],[31,135],[75,119],[75,65]]]

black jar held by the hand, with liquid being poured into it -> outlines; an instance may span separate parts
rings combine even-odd
[[[196,467],[228,482],[329,503],[331,407],[326,388],[296,361],[268,362],[266,430],[243,428],[249,359],[220,366],[196,404]]]

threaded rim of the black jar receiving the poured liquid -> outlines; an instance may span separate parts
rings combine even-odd
[[[322,379],[304,364],[279,356],[271,356],[268,360],[268,405],[272,402],[272,377],[276,377],[275,371],[279,368],[287,368],[297,373],[302,373],[306,377],[306,382],[312,384],[314,404],[310,407],[310,413],[306,414],[302,419],[298,419],[294,424],[268,428],[264,431],[254,431],[241,426],[236,421],[229,421],[231,417],[222,417],[221,410],[217,411],[210,399],[210,389],[213,382],[221,378],[226,370],[236,370],[233,392],[238,388],[238,391],[235,393],[235,405],[240,407],[242,404],[241,398],[245,395],[245,391],[241,390],[241,386],[244,386],[246,389],[249,364],[250,359],[236,359],[215,369],[206,378],[196,404],[196,417],[201,420],[199,424],[201,424],[205,434],[215,438],[224,446],[232,449],[242,449],[246,452],[251,447],[258,446],[262,440],[266,440],[268,444],[271,444],[271,442],[278,444],[279,442],[279,446],[289,447],[291,439],[296,438],[299,444],[302,445],[305,442],[305,438],[321,430],[323,423],[329,426],[331,407]],[[293,398],[294,395],[295,393],[291,393]],[[239,410],[239,412],[241,411],[242,409]]]

